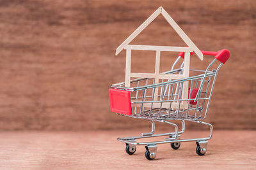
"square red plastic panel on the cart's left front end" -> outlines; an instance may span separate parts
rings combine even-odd
[[[111,111],[124,115],[132,115],[130,92],[109,89],[109,101]]]

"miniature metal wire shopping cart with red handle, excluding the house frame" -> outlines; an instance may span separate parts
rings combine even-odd
[[[196,141],[196,153],[198,153],[198,155],[205,154],[207,150],[207,140],[212,137],[213,127],[211,124],[207,124],[201,120],[207,116],[216,76],[222,64],[228,59],[229,52],[228,50],[221,50],[220,52],[202,53],[216,56],[211,64],[209,64],[206,71],[190,69],[190,71],[199,73],[196,76],[179,80],[163,81],[161,83],[150,83],[150,81],[154,82],[154,78],[138,78],[131,81],[133,86],[130,88],[124,87],[125,83],[118,83],[111,86],[112,89],[109,89],[109,97],[112,111],[116,112],[118,115],[142,118],[152,123],[152,131],[149,133],[143,133],[141,136],[130,138],[118,138],[118,141],[122,141],[126,144],[125,150],[129,155],[132,155],[136,151],[136,145],[145,145],[145,157],[148,160],[153,160],[156,157],[157,144],[170,143],[172,148],[177,150],[180,147],[180,142],[187,141]],[[179,56],[175,63],[177,63],[181,57],[182,56]],[[220,65],[217,69],[211,69],[210,71],[210,67],[216,60],[220,60]],[[181,66],[179,69],[172,69],[164,74],[182,74],[182,71],[183,67]],[[184,87],[184,83],[186,82],[189,83],[188,99],[181,99],[182,87]],[[154,99],[156,89],[160,90],[160,95],[157,96],[157,100]],[[179,107],[182,102],[189,103],[186,109]],[[176,104],[178,106],[177,109],[172,109],[172,104]],[[163,107],[163,105],[167,105],[168,107]],[[168,120],[180,120],[182,122],[182,130],[178,131],[178,125]],[[154,134],[154,121],[172,125],[175,127],[175,132]],[[210,136],[207,138],[180,139],[180,134],[185,131],[185,121],[207,125],[210,127]],[[136,139],[156,136],[168,136],[168,138],[164,141],[136,142]]]

